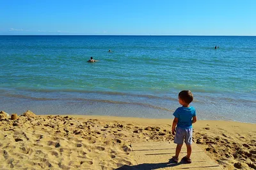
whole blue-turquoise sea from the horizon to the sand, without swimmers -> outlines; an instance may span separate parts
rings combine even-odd
[[[256,36],[0,36],[0,110],[173,118],[179,91],[190,89],[199,120],[256,123],[255,44]]]

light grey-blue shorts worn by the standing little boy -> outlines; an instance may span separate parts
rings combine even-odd
[[[193,128],[176,127],[174,143],[183,144],[185,139],[186,144],[192,144],[192,133],[193,133]]]

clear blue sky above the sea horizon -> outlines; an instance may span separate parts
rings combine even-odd
[[[0,0],[0,35],[256,35],[255,8],[255,0]]]

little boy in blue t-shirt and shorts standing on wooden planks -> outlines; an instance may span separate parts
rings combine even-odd
[[[192,101],[193,94],[191,93],[191,91],[180,91],[179,103],[182,105],[182,107],[177,108],[176,111],[173,113],[173,116],[175,116],[175,118],[172,123],[172,134],[175,135],[174,143],[177,144],[175,156],[172,158],[174,162],[179,161],[179,153],[185,140],[187,146],[187,155],[182,159],[186,161],[186,163],[191,163],[190,155],[192,151],[191,144],[193,133],[192,123],[196,122],[195,108],[189,105]]]

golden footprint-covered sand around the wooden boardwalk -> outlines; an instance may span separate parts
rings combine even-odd
[[[256,169],[256,124],[198,120],[193,141],[223,169]],[[173,142],[170,120],[0,113],[1,169],[116,169],[129,144]],[[173,155],[170,155],[170,158]],[[193,158],[192,158],[193,160]]]

